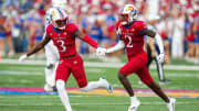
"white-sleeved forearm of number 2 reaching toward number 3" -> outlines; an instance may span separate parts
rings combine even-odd
[[[106,53],[113,53],[113,52],[116,52],[116,51],[122,49],[124,47],[125,47],[124,42],[119,41],[114,47],[107,48]]]

